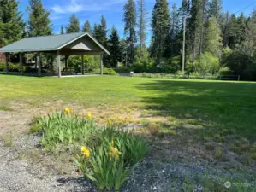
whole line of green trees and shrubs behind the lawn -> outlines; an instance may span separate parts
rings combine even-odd
[[[18,5],[16,0],[0,2],[0,46],[53,33],[50,13],[41,0],[29,0],[27,22]],[[62,34],[88,32],[96,38],[110,51],[104,55],[104,67],[135,73],[182,73],[184,22],[185,73],[256,80],[256,12],[224,12],[221,0],[182,0],[180,7],[173,4],[171,9],[167,0],[156,0],[151,14],[145,0],[128,0],[123,7],[123,38],[115,26],[107,27],[104,15],[92,26],[89,20],[80,25],[73,14],[60,30]],[[96,60],[87,58],[88,63]]]

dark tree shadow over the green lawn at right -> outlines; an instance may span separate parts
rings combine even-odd
[[[137,89],[148,90],[142,102],[155,115],[203,119],[247,136],[256,131],[256,84],[155,80]]]

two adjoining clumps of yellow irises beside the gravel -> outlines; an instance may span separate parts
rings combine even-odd
[[[120,189],[150,150],[132,131],[99,127],[92,114],[80,117],[69,108],[38,119],[36,126],[45,149],[72,152],[76,166],[98,189]]]

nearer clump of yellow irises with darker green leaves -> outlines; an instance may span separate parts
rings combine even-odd
[[[93,142],[80,148],[81,154],[76,164],[98,189],[120,189],[149,151],[142,137],[135,137],[128,131],[107,127],[92,138]]]

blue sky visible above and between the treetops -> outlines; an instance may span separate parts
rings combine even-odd
[[[69,16],[74,13],[80,19],[80,26],[86,20],[94,23],[99,23],[100,16],[104,15],[107,20],[107,25],[110,28],[115,25],[120,36],[123,36],[123,22],[122,22],[122,8],[127,0],[42,0],[46,9],[51,13],[51,21],[53,23],[53,31],[60,32],[61,25],[67,26]],[[151,13],[155,0],[146,0],[146,7],[148,12]],[[170,7],[176,3],[179,7],[182,0],[168,0]],[[252,9],[256,9],[256,0],[223,0],[223,9],[229,10],[230,13],[239,11],[247,5],[244,9],[246,14],[249,14]],[[20,9],[24,15],[24,20],[27,20],[27,6],[28,0],[20,0]],[[240,14],[240,13],[238,13]],[[150,20],[150,14],[149,20]]]

